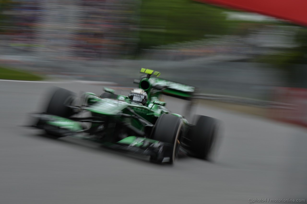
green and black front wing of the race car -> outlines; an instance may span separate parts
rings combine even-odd
[[[157,140],[137,136],[128,136],[115,143],[106,141],[103,138],[89,135],[87,131],[89,129],[82,128],[78,121],[62,118],[59,116],[45,113],[36,113],[33,114],[33,117],[36,118],[36,121],[38,122],[35,125],[30,125],[31,127],[43,129],[49,133],[62,137],[69,136],[76,139],[83,139],[95,143],[100,143],[104,147],[111,149],[124,150],[134,154],[150,156],[153,161],[157,162],[169,162],[170,155],[173,151],[173,144],[163,143]],[[82,119],[86,120],[85,118]],[[87,120],[86,122],[91,121]],[[98,121],[94,122],[97,123]]]

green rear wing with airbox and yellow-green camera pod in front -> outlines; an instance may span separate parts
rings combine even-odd
[[[160,76],[160,72],[142,68],[141,73],[145,73],[147,76],[138,81],[139,88],[144,89],[146,92],[149,92],[151,88],[155,88],[161,90],[165,95],[187,100],[191,99],[196,92],[196,87],[194,86],[157,78]],[[151,77],[152,75],[155,77]]]

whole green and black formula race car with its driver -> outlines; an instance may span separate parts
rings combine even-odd
[[[195,87],[157,78],[160,73],[150,69],[142,68],[141,73],[146,75],[134,80],[138,88],[128,96],[104,88],[100,97],[85,92],[78,98],[56,88],[46,111],[33,113],[37,122],[31,126],[55,138],[71,136],[147,155],[156,163],[173,163],[179,154],[208,159],[216,140],[217,120],[198,116],[195,125],[189,124],[159,100],[162,94],[191,99]],[[90,116],[80,116],[84,112]]]

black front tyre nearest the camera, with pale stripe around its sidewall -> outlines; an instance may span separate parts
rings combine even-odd
[[[173,145],[170,150],[163,155],[163,157],[169,157],[168,163],[174,163],[177,158],[180,147],[178,141],[180,141],[183,134],[183,128],[184,126],[181,118],[169,114],[161,115],[153,128],[151,139]],[[163,162],[163,158],[151,157],[150,160],[157,163]]]

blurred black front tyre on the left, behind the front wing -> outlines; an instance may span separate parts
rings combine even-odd
[[[76,99],[75,93],[64,89],[56,88],[51,94],[51,98],[46,107],[46,113],[60,116],[63,118],[68,118],[73,114],[73,110],[66,105],[74,104]],[[47,134],[52,135],[53,138],[62,137],[61,135],[56,134],[56,132],[45,130]]]

